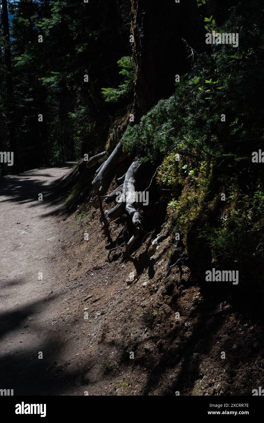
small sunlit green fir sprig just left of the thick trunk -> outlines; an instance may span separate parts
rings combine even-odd
[[[117,62],[121,68],[120,75],[125,77],[118,88],[102,88],[102,94],[106,102],[117,102],[121,96],[131,93],[134,87],[134,65],[131,56],[124,56]]]

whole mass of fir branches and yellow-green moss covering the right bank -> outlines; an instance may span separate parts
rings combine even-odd
[[[216,29],[212,16],[208,30]],[[263,149],[264,12],[261,2],[239,3],[218,32],[239,33],[239,46],[218,44],[200,54],[192,71],[176,83],[140,124],[124,135],[124,150],[162,165],[157,181],[171,190],[171,227],[215,264],[249,265],[264,252],[264,172],[251,154]],[[225,121],[221,116],[225,115]],[[175,162],[177,154],[180,162]],[[225,192],[227,201],[220,201]],[[187,245],[190,248],[190,245]]]

